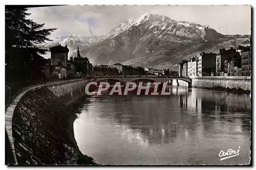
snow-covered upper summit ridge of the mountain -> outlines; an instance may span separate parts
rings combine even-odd
[[[129,31],[133,27],[143,27],[154,34],[169,34],[195,39],[210,39],[223,37],[210,26],[201,26],[197,23],[176,21],[167,16],[158,14],[144,14],[139,17],[130,18],[124,23],[114,27],[108,36],[117,36],[124,31]]]

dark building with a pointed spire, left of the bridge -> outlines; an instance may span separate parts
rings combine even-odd
[[[74,57],[74,65],[76,72],[82,76],[89,76],[92,74],[92,64],[87,57],[81,57],[79,47],[77,47],[77,55]]]

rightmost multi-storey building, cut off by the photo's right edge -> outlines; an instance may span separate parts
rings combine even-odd
[[[251,51],[241,53],[242,57],[242,76],[251,76]]]

